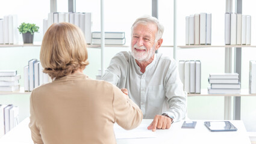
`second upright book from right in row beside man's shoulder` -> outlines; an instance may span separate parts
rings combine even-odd
[[[190,86],[190,89],[189,89],[189,92],[190,93],[195,93],[196,92],[196,86],[195,86],[195,83],[196,83],[196,62],[195,61],[190,61],[190,80],[189,80],[189,86]]]

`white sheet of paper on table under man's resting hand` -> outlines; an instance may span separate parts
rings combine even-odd
[[[148,125],[141,124],[133,130],[125,130],[118,124],[114,124],[114,134],[116,139],[138,139],[156,137],[156,132],[148,130]]]

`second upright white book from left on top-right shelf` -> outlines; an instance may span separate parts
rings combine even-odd
[[[230,44],[237,44],[237,14],[231,13],[231,25],[230,25]]]

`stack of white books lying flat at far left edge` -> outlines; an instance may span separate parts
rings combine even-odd
[[[20,75],[16,70],[0,71],[0,91],[19,91]]]

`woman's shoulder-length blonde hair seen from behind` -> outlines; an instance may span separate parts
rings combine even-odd
[[[66,22],[52,24],[43,37],[40,51],[43,72],[58,79],[80,68],[84,70],[89,64],[86,47],[80,28]]]

